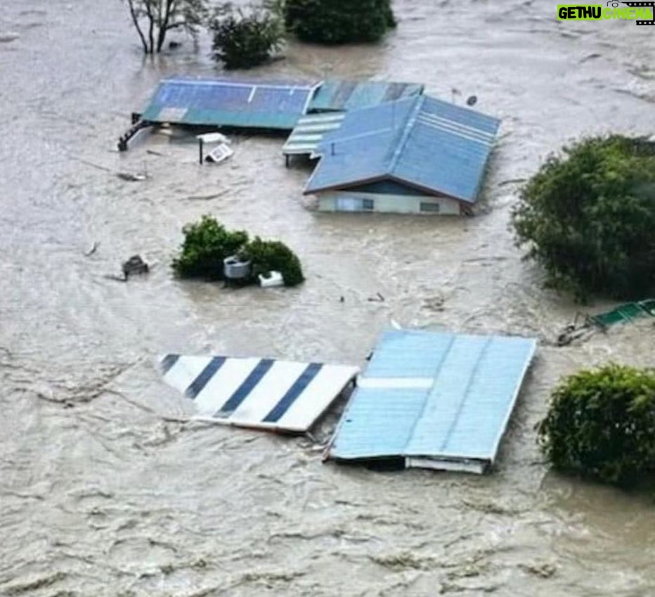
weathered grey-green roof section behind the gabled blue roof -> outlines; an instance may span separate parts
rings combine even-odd
[[[328,80],[320,85],[309,111],[358,110],[422,93],[423,85],[415,83]]]

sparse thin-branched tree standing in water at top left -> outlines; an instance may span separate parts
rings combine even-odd
[[[182,30],[197,36],[207,18],[207,0],[124,1],[146,54],[162,51],[169,31]]]

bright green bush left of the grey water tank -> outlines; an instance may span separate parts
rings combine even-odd
[[[223,259],[235,255],[247,242],[245,231],[228,231],[211,216],[182,229],[184,243],[173,269],[182,278],[223,278]]]

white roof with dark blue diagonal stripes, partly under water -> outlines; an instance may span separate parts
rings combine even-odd
[[[358,368],[273,359],[167,354],[164,381],[193,400],[198,418],[240,427],[302,433]]]

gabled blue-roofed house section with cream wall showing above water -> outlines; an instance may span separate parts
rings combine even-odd
[[[330,126],[304,190],[319,210],[455,215],[472,212],[500,120],[418,95]]]

